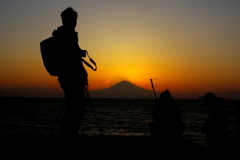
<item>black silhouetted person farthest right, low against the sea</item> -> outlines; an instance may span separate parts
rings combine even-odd
[[[221,105],[220,99],[213,93],[207,93],[204,97],[205,105],[209,110],[206,123],[202,127],[202,133],[206,133],[207,144],[210,151],[225,151],[228,144],[228,116]]]

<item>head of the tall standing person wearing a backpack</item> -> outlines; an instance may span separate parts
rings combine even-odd
[[[62,23],[64,26],[75,29],[77,25],[78,14],[72,7],[68,7],[61,13]]]

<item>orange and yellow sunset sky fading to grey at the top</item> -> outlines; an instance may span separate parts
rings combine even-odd
[[[129,81],[183,98],[240,99],[239,0],[1,0],[0,89],[59,90],[39,43],[78,12],[79,45],[97,62],[90,90]],[[86,59],[88,60],[88,59]]]

